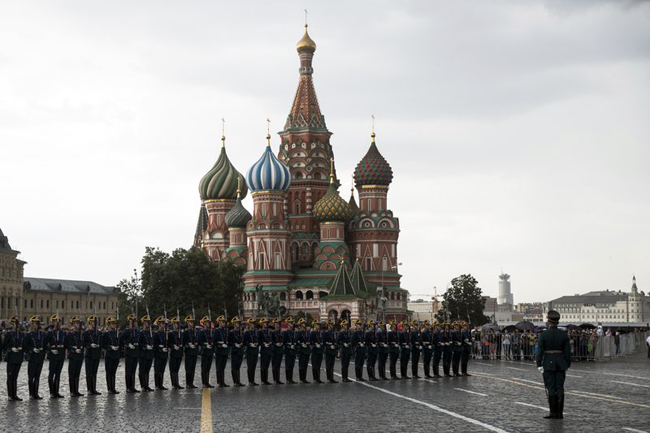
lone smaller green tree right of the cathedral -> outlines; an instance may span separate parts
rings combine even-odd
[[[482,325],[490,321],[483,314],[485,299],[478,281],[470,274],[461,275],[451,281],[451,287],[442,297],[442,306],[436,314],[438,322],[464,320],[472,325]]]

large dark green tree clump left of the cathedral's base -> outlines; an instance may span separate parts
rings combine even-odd
[[[171,254],[147,247],[140,281],[136,274],[118,287],[129,313],[135,312],[137,299],[140,316],[149,307],[152,320],[165,309],[168,317],[175,316],[178,309],[182,319],[192,314],[192,308],[197,321],[208,314],[208,308],[214,320],[224,312],[228,317],[241,314],[243,275],[241,266],[229,260],[215,262],[198,247],[178,248]],[[138,283],[139,289],[134,288]]]

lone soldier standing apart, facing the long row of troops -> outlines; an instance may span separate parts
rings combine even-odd
[[[544,387],[550,413],[544,418],[564,418],[564,380],[571,367],[571,344],[565,331],[558,329],[560,313],[550,310],[546,315],[547,330],[538,340],[537,369],[544,375]]]

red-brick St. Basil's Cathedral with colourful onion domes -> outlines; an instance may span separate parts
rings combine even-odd
[[[300,81],[279,133],[242,176],[228,159],[225,137],[214,166],[199,183],[202,205],[194,243],[214,260],[246,267],[243,313],[257,314],[256,286],[279,294],[288,314],[314,319],[405,319],[408,292],[400,287],[399,219],[388,207],[393,171],[372,142],[354,170],[348,201],[338,192],[332,133],[321,113],[312,74],[316,43],[296,46]],[[250,191],[253,213],[242,199]],[[384,287],[384,300],[378,288]],[[381,292],[380,292],[381,293]]]

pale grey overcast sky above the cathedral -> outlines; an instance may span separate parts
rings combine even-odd
[[[374,113],[412,298],[462,273],[496,295],[502,270],[515,302],[650,290],[633,1],[2,2],[0,228],[25,275],[114,285],[189,247],[220,119],[242,173],[284,125],[304,8],[341,194]]]

